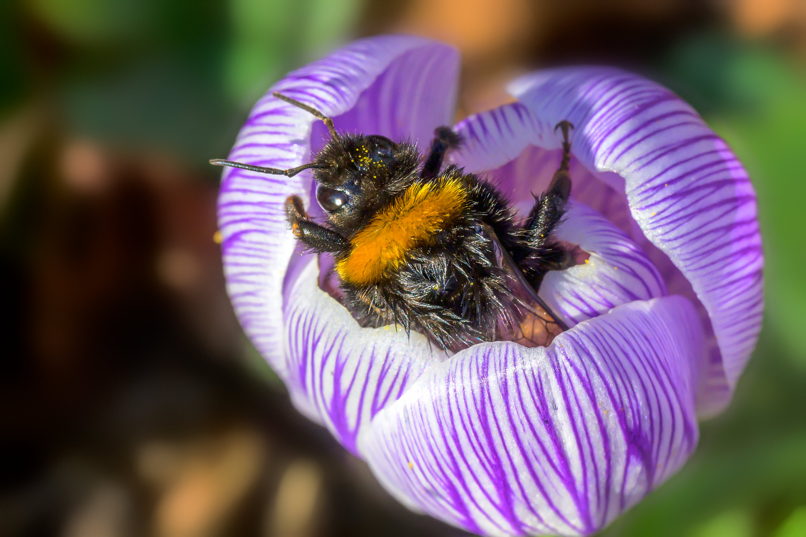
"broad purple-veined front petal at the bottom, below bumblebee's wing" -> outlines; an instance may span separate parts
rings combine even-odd
[[[695,448],[701,339],[692,305],[671,296],[547,349],[476,345],[376,415],[359,449],[406,506],[467,531],[590,535]]]

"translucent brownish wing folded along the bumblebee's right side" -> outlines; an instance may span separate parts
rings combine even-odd
[[[482,229],[482,233],[492,242],[496,264],[501,267],[513,295],[510,310],[513,318],[501,319],[497,339],[514,341],[525,347],[550,345],[559,333],[568,329],[567,324],[551,311],[534,287],[526,281],[509,252],[501,246],[495,231],[486,224],[482,225]]]

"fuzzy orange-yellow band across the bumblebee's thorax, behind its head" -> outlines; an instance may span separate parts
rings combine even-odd
[[[345,283],[378,283],[405,262],[406,253],[462,215],[467,191],[458,178],[413,184],[355,233],[350,254],[336,263]]]

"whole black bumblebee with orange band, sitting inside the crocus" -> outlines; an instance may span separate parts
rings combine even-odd
[[[536,290],[547,271],[573,264],[553,235],[571,192],[570,123],[555,127],[563,159],[519,225],[495,186],[460,167],[442,168],[461,143],[449,127],[435,130],[423,158],[413,143],[341,134],[317,109],[274,96],[325,122],[330,141],[313,162],[289,170],[210,163],[289,177],[313,169],[325,221],[312,221],[299,196],[286,200],[286,218],[308,250],[333,254],[343,304],[359,324],[416,330],[453,351],[501,339],[548,345],[567,328]]]

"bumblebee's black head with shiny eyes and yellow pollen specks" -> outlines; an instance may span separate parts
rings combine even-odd
[[[339,135],[316,156],[316,199],[330,225],[350,235],[402,192],[418,162],[412,144],[376,134]]]

